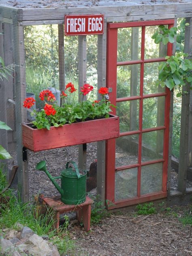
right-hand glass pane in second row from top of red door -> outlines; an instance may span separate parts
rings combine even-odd
[[[144,78],[143,78],[143,94],[162,93],[165,87],[156,86],[156,81],[159,79],[158,67],[162,62],[145,63]]]

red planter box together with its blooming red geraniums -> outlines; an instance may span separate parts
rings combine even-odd
[[[99,89],[100,101],[84,100],[84,96],[93,90],[90,84],[84,84],[80,90],[82,100],[77,102],[74,99],[76,89],[68,83],[65,92],[61,93],[60,105],[50,90],[43,90],[39,94],[45,103],[41,111],[33,109],[33,97],[26,98],[23,107],[31,111],[34,120],[23,124],[23,146],[41,151],[118,138],[119,118],[109,115],[111,107],[115,106],[108,100],[108,89]]]

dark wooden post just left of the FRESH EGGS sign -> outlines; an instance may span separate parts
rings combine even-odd
[[[59,89],[65,89],[64,25],[58,24]],[[62,102],[60,102],[62,103]]]

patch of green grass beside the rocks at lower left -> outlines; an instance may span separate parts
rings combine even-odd
[[[6,186],[6,176],[2,173],[0,169],[0,188],[3,189]],[[60,232],[57,233],[56,230],[51,230],[53,225],[53,212],[47,209],[46,214],[36,214],[36,207],[32,203],[23,203],[18,200],[14,195],[13,190],[7,190],[3,197],[9,196],[8,203],[0,203],[0,233],[2,229],[14,228],[16,222],[23,224],[23,226],[28,226],[36,234],[42,236],[47,234],[49,240],[57,245],[60,255],[75,255],[73,254],[75,250],[74,241],[72,241],[68,234],[68,216],[66,216],[66,222]],[[41,210],[41,209],[40,209]],[[35,214],[35,217],[34,217]]]

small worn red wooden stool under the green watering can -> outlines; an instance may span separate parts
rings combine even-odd
[[[55,215],[53,217],[53,227],[55,229],[59,229],[60,214],[67,213],[69,211],[76,211],[78,221],[81,222],[81,219],[83,217],[85,231],[90,231],[91,204],[93,203],[93,200],[90,199],[88,196],[86,196],[85,202],[77,205],[64,204],[60,200],[60,196],[45,197],[43,198],[43,200],[45,204],[47,204],[49,207],[51,207],[51,209],[55,211]]]

